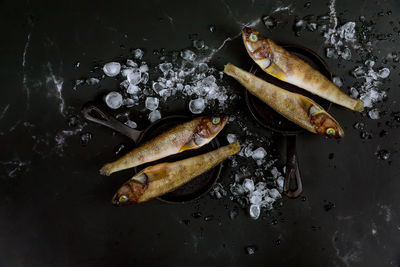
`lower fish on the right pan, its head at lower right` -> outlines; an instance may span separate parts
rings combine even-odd
[[[231,63],[225,65],[224,72],[246,87],[251,94],[304,129],[329,138],[344,137],[339,123],[314,100],[268,83]]]

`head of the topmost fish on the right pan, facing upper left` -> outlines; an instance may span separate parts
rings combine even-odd
[[[244,46],[250,57],[257,62],[257,64],[263,63],[263,67],[267,68],[271,63],[272,53],[269,48],[267,38],[262,36],[258,31],[245,27],[242,30],[242,38]],[[264,60],[263,62],[259,62]]]

